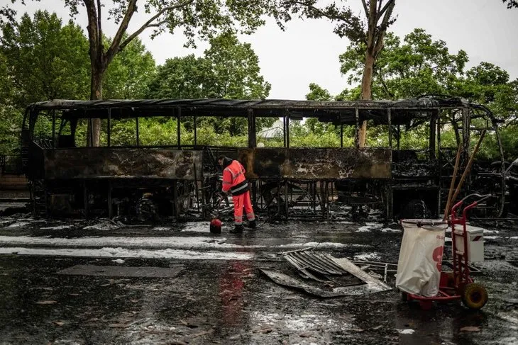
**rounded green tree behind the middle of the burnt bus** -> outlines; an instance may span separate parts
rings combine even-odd
[[[240,43],[233,33],[210,40],[204,57],[175,57],[158,67],[150,81],[147,98],[266,98],[271,85],[260,75],[259,60],[248,43]],[[256,128],[268,127],[275,118],[260,118]],[[194,123],[187,119],[185,128]],[[199,128],[212,128],[214,134],[246,135],[246,118],[199,118]],[[216,142],[214,142],[216,144]]]

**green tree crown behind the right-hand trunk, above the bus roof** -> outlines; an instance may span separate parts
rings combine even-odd
[[[363,46],[350,45],[340,55],[341,72],[348,83],[360,82],[363,74]],[[373,98],[399,99],[423,94],[451,94],[463,74],[468,56],[463,50],[451,54],[443,40],[432,40],[422,29],[414,29],[403,43],[387,33],[385,47],[375,63]]]

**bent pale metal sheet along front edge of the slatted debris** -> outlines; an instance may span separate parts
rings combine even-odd
[[[358,268],[359,269],[359,268]],[[378,284],[375,283],[367,283],[363,285],[352,285],[352,286],[341,286],[338,288],[333,288],[332,290],[324,290],[321,288],[316,288],[312,285],[304,283],[303,281],[299,281],[295,278],[287,276],[284,273],[268,271],[261,269],[261,272],[265,273],[272,281],[279,285],[287,286],[290,288],[296,288],[299,290],[303,290],[309,295],[314,295],[321,298],[332,298],[332,297],[341,297],[341,296],[356,296],[363,295],[365,293],[378,293],[381,291],[391,290],[388,285],[383,284],[381,281],[378,281],[376,278],[372,278],[373,281],[378,281]],[[365,273],[367,274],[367,273]]]

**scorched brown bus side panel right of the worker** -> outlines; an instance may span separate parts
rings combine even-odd
[[[390,179],[390,149],[255,148],[238,157],[249,179]]]

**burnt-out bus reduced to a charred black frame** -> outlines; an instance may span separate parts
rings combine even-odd
[[[248,142],[242,147],[201,145],[197,123],[207,116],[246,121]],[[140,129],[151,118],[174,134],[167,140],[143,140]],[[282,123],[277,147],[260,137],[260,118]],[[334,125],[339,144],[292,147],[291,124],[309,118]],[[93,119],[101,123],[99,147],[87,144],[86,128]],[[360,147],[364,122],[367,145]],[[55,100],[28,106],[21,146],[37,215],[209,217],[216,208],[228,207],[216,205],[221,171],[215,162],[226,154],[246,166],[255,208],[268,217],[394,219],[441,217],[458,147],[463,152],[457,181],[485,132],[484,142],[497,146],[497,157],[473,164],[459,198],[491,193],[480,213],[502,217],[509,198],[497,125],[484,106],[446,96],[332,102]],[[116,133],[121,126],[126,128],[123,140]]]

